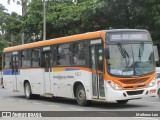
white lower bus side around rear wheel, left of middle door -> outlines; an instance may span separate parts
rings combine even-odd
[[[20,69],[19,74],[16,75],[17,84],[13,84],[12,81],[15,75],[3,74],[4,87],[10,90],[24,91],[24,82],[28,81],[32,88],[33,94],[44,94],[44,69]],[[8,84],[9,83],[9,84]],[[13,89],[16,88],[17,89]],[[12,88],[12,89],[11,89]]]

